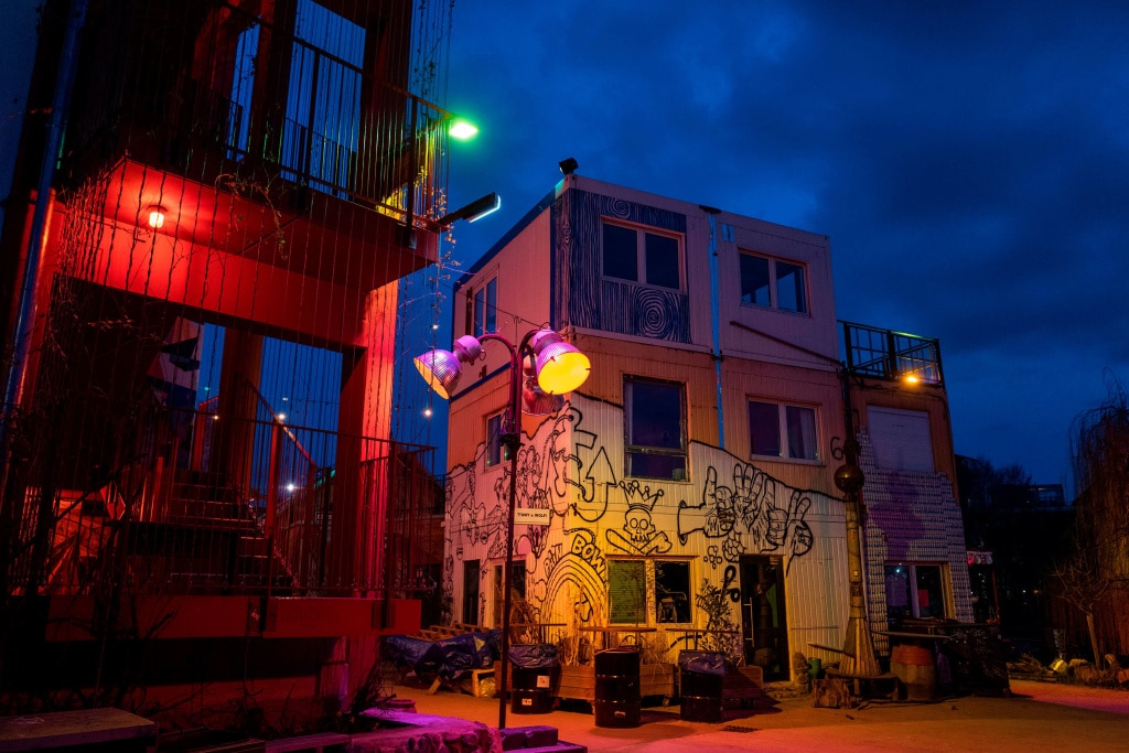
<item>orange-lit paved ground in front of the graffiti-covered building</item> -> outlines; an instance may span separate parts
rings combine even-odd
[[[498,726],[498,699],[396,686],[423,713]],[[595,726],[577,709],[515,715],[507,726],[549,725],[589,751],[975,751],[1040,753],[1129,751],[1129,692],[1013,681],[1010,698],[961,697],[931,703],[872,701],[859,708],[816,709],[811,697],[780,688],[758,710],[726,711],[721,724],[683,721],[679,707],[644,707],[639,727]]]

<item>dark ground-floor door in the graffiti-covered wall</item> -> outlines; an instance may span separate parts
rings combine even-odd
[[[745,664],[761,667],[767,681],[790,677],[780,558],[741,558],[741,632]]]

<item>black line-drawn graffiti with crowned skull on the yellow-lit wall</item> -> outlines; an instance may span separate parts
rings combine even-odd
[[[550,511],[549,525],[515,529],[514,555],[525,562],[528,614],[569,624],[603,623],[609,557],[695,559],[732,598],[739,592],[734,566],[743,554],[779,553],[790,568],[812,551],[815,536],[806,517],[813,498],[826,497],[788,487],[704,445],[695,446],[699,482],[623,479],[622,437],[593,431],[581,406],[601,412],[599,426],[623,426],[622,406],[574,395],[518,450],[517,507]],[[730,475],[723,476],[721,467],[732,469]],[[446,536],[454,567],[505,559],[511,475],[509,463],[485,467],[484,444],[473,463],[452,469]],[[483,619],[491,616],[485,597],[492,593],[491,571],[479,570]],[[445,588],[456,583],[462,583],[458,577],[444,579]],[[456,594],[450,596],[458,603]]]

